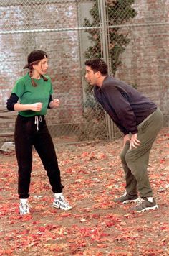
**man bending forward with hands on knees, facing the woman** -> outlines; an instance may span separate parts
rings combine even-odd
[[[115,198],[115,202],[137,202],[132,208],[137,212],[158,209],[147,168],[151,147],[163,126],[163,114],[135,88],[108,76],[103,60],[87,60],[85,65],[85,78],[94,86],[95,99],[124,134],[120,158],[125,171],[126,192]]]

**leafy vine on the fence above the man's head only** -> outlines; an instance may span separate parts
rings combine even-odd
[[[132,4],[135,3],[135,0],[107,0],[107,32],[110,36],[109,40],[109,50],[110,50],[110,63],[111,63],[111,73],[115,75],[118,66],[121,64],[120,55],[125,51],[130,42],[129,29],[125,29],[125,32],[120,32],[121,27],[115,27],[126,22],[129,22],[130,19],[134,18],[137,15],[135,9],[132,8]],[[99,17],[99,7],[98,1],[95,0],[95,3],[90,9],[90,14],[92,16],[92,22],[88,19],[84,19],[85,27],[96,27],[100,25]],[[113,26],[113,27],[111,27]],[[102,45],[100,41],[100,29],[87,29],[89,33],[89,39],[92,42],[86,52],[84,52],[85,58],[101,58],[102,57]]]

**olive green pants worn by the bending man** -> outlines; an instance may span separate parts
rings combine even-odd
[[[160,109],[150,115],[137,126],[137,139],[141,144],[130,150],[130,142],[127,141],[122,149],[120,158],[125,171],[126,192],[129,195],[140,197],[152,197],[153,191],[148,178],[148,161],[153,142],[163,126],[163,114]]]

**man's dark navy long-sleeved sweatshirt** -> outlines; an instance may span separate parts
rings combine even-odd
[[[157,109],[150,99],[112,76],[101,88],[94,87],[94,96],[123,134],[137,133],[137,125]]]

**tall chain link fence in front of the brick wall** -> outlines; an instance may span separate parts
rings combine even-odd
[[[167,0],[1,0],[1,106],[24,75],[26,56],[41,49],[61,101],[47,114],[57,141],[120,136],[84,79],[87,58],[103,58],[110,74],[147,93],[169,124],[168,6]]]

